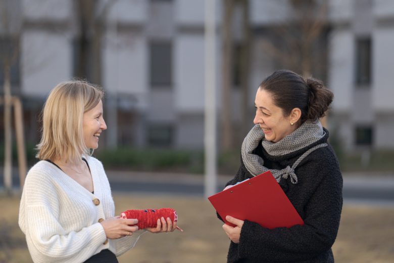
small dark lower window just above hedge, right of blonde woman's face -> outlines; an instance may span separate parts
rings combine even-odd
[[[173,126],[171,124],[149,125],[147,140],[150,146],[171,146],[173,141]]]

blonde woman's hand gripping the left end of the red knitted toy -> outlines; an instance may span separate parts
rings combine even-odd
[[[133,232],[138,230],[138,227],[129,225],[135,225],[137,223],[137,219],[124,219],[120,218],[120,216],[115,216],[102,221],[100,224],[103,226],[107,238],[117,239],[131,236]]]

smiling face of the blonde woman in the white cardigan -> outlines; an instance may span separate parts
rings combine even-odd
[[[83,113],[82,131],[85,146],[88,149],[97,149],[98,138],[105,129],[107,125],[103,118],[103,102],[100,100],[93,109]]]

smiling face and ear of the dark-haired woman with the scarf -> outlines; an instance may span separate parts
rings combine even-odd
[[[274,104],[271,94],[264,89],[257,90],[255,107],[256,116],[253,122],[260,125],[266,140],[279,142],[297,128],[299,117],[295,115],[299,109],[293,109],[289,116],[284,116],[282,109]]]

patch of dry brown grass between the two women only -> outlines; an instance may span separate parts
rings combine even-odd
[[[228,238],[211,204],[202,198],[117,195],[117,212],[126,209],[173,207],[184,232],[146,233],[119,262],[224,262]]]

